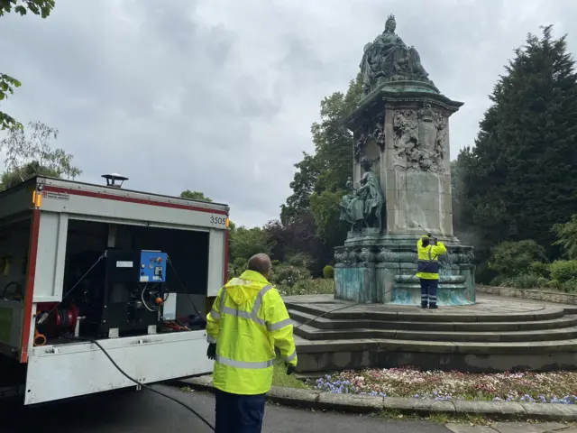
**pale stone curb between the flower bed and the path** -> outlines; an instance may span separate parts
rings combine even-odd
[[[197,391],[215,392],[212,378],[200,376],[177,381]],[[435,401],[398,397],[370,397],[332,392],[314,392],[272,387],[267,399],[293,408],[337,412],[378,413],[398,410],[412,415],[477,415],[499,420],[577,421],[577,405],[555,403],[517,403],[514,401]]]

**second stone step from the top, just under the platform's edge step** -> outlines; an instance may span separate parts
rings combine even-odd
[[[289,316],[299,323],[307,323],[319,329],[392,329],[407,331],[457,331],[457,332],[505,332],[559,329],[577,326],[577,315],[553,318],[550,320],[504,321],[504,322],[437,322],[436,316],[430,316],[428,322],[402,320],[343,320],[335,318],[317,318],[317,315],[289,309]]]

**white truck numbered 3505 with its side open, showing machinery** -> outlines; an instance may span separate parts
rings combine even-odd
[[[0,395],[26,405],[209,373],[229,207],[36,177],[0,193]]]

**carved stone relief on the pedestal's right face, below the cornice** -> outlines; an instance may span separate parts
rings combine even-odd
[[[393,112],[393,167],[400,170],[444,171],[446,116],[430,104]]]

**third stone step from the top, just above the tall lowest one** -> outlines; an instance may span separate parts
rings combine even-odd
[[[577,327],[509,332],[445,332],[397,329],[318,329],[293,321],[294,333],[307,340],[397,339],[438,342],[536,342],[577,338]]]

